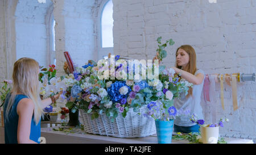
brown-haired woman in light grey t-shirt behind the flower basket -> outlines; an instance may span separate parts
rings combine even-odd
[[[154,60],[158,57],[155,56]],[[188,94],[181,94],[180,98],[174,99],[174,106],[178,110],[189,110],[197,118],[204,119],[201,107],[201,93],[204,86],[205,73],[196,68],[196,52],[191,45],[181,45],[176,51],[176,66],[172,67],[176,73],[188,82],[193,83]],[[199,132],[199,125],[192,123],[190,115],[178,116],[174,120],[174,132],[190,133]]]

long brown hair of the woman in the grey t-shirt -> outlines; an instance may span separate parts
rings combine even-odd
[[[177,48],[177,51],[180,48],[183,49],[185,52],[187,52],[188,56],[189,56],[188,68],[185,69],[185,71],[195,75],[196,70],[197,70],[197,68],[196,68],[196,52],[195,52],[195,49],[191,45],[181,45],[179,48]],[[176,55],[177,55],[177,51],[176,51]],[[176,64],[176,68],[181,69],[181,66],[177,65],[177,59],[176,59],[175,64]],[[190,87],[189,90],[188,90],[188,95],[192,95],[192,93],[193,93],[193,89],[192,89],[192,87]]]

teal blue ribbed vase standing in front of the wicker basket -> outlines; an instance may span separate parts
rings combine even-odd
[[[156,127],[156,135],[158,136],[158,143],[171,144],[174,120],[170,120],[170,121],[155,120],[155,127]]]

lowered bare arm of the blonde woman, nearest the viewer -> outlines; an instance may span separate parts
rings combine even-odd
[[[34,112],[34,103],[31,99],[24,98],[19,101],[17,113],[19,115],[17,140],[23,144],[38,144],[30,140],[31,119]]]

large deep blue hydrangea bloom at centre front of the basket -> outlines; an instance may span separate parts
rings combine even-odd
[[[127,95],[131,91],[131,87],[127,86],[125,84],[125,81],[115,81],[114,83],[111,84],[111,86],[108,88],[107,92],[110,97],[110,99],[115,103],[115,102],[120,102],[122,98],[127,98]],[[122,86],[127,86],[128,87],[128,93],[126,95],[122,95],[119,93],[119,89]]]

